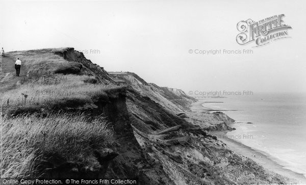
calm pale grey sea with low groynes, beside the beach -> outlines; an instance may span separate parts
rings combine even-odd
[[[306,94],[259,93],[205,98],[203,107],[233,118],[226,133],[273,161],[306,177]]]

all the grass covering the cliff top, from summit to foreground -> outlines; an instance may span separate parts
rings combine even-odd
[[[55,55],[56,50],[7,53],[20,58],[29,76],[0,96],[1,177],[37,177],[42,162],[53,157],[95,169],[99,163],[94,151],[113,143],[107,121],[85,115],[82,108],[94,107],[97,99],[108,100],[124,88],[98,84],[94,76],[61,72],[81,64]]]

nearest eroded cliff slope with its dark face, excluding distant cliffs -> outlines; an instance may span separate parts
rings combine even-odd
[[[117,146],[112,149],[119,154],[110,162],[108,177],[139,177],[141,184],[285,182],[281,176],[235,154],[201,126],[133,89],[127,88],[120,103],[105,105],[103,110],[116,130]]]

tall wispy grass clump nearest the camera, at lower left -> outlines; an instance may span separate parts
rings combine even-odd
[[[4,117],[2,129],[0,174],[5,178],[33,177],[40,161],[53,156],[96,166],[93,149],[113,142],[112,128],[104,118],[82,113]]]

